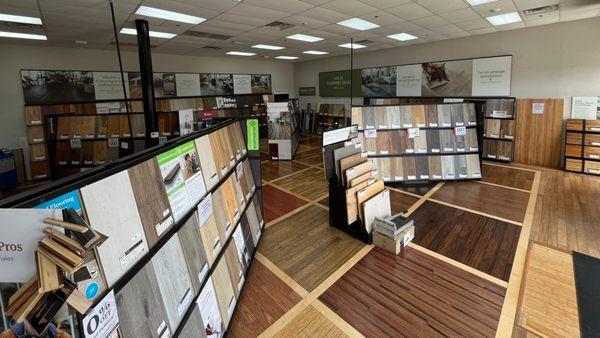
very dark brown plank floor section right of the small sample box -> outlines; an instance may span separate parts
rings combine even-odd
[[[412,217],[416,244],[508,281],[520,226],[429,201]]]

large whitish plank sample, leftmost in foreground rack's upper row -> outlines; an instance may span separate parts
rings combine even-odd
[[[148,252],[129,176],[122,171],[80,191],[90,225],[108,236],[98,253],[111,287]]]

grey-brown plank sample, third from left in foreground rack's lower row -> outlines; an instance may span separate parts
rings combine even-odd
[[[188,274],[192,282],[193,294],[200,292],[200,286],[209,271],[209,262],[207,248],[200,233],[200,225],[196,215],[188,218],[181,229],[177,232],[181,249],[183,250],[183,258],[187,266]]]

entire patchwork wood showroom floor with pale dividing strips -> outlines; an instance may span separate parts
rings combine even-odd
[[[580,336],[597,178],[484,161],[479,181],[386,184],[415,223],[396,256],[329,225],[321,142],[263,154],[266,225],[228,336]]]

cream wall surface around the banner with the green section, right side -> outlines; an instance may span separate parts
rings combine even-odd
[[[511,54],[512,96],[564,98],[567,117],[572,96],[600,96],[599,32],[600,18],[496,32],[357,53],[354,68]],[[295,63],[295,87],[315,86],[318,95],[319,72],[349,69],[349,64],[349,55]],[[302,107],[317,101],[303,98]],[[322,99],[335,101],[340,99]]]

